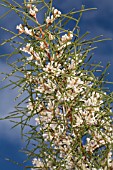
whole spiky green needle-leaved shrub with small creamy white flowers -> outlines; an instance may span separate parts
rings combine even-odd
[[[62,14],[52,7],[52,1],[29,0],[24,8],[16,3],[19,9],[3,2],[24,16],[16,27],[18,34],[10,39],[18,36],[21,41],[15,47],[20,57],[11,64],[14,69],[8,76],[21,72],[23,76],[12,85],[21,89],[20,95],[26,91],[28,96],[6,118],[20,118],[15,123],[21,125],[27,138],[25,153],[33,159],[31,169],[112,169],[113,96],[103,89],[102,75],[95,76],[100,66],[89,62],[89,52],[99,37],[79,37],[78,22],[88,9]],[[47,10],[43,24],[37,19],[42,9],[37,4]],[[73,17],[76,13],[80,14],[77,19]],[[76,24],[67,30],[70,20]]]

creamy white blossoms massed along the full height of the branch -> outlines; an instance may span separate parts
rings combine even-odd
[[[27,8],[36,18],[38,9],[31,3]],[[102,146],[109,147],[105,166],[111,168],[113,129],[108,116],[112,111],[104,107],[107,94],[96,88],[96,78],[78,69],[84,54],[70,48],[74,33],[66,31],[57,36],[51,29],[46,30],[59,17],[61,12],[52,8],[52,15],[45,19],[46,26],[38,30],[38,35],[34,29],[17,26],[19,33],[32,36],[37,43],[20,48],[30,55],[26,61],[35,70],[25,72],[27,87],[30,85],[33,92],[27,110],[35,116],[37,131],[51,150],[51,154],[43,152],[44,160],[42,156],[33,159],[32,170],[74,170],[75,166],[77,170],[104,170],[97,169],[93,160],[95,151]],[[86,144],[82,143],[83,136]]]

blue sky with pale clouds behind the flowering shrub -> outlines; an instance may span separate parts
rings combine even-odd
[[[11,2],[10,0],[7,0]],[[17,2],[21,3],[22,0]],[[104,35],[105,38],[111,38],[111,41],[105,41],[99,43],[98,48],[94,51],[94,62],[102,62],[102,65],[106,65],[110,61],[111,66],[108,70],[108,80],[113,81],[113,0],[54,0],[55,7],[62,11],[62,13],[75,8],[76,10],[81,8],[81,5],[85,5],[86,8],[96,7],[96,11],[90,11],[83,14],[80,27],[81,34],[86,31],[90,32],[89,37],[97,35]],[[5,12],[5,8],[0,7],[0,15]],[[41,20],[40,16],[40,20]],[[14,13],[10,13],[6,18],[0,20],[0,27],[7,27],[13,31],[17,31],[16,25],[21,21],[16,18]],[[69,25],[70,27],[70,25]],[[0,42],[6,39],[9,35],[0,29]],[[0,54],[9,53],[11,49],[8,45],[0,47]],[[0,59],[0,72],[10,71],[10,68],[6,65],[5,59]],[[1,79],[1,77],[0,77]],[[5,85],[8,81],[1,83],[0,86]],[[113,85],[108,85],[111,91],[113,91]],[[5,89],[0,91],[0,117],[13,110],[14,101],[13,98],[16,95],[16,91],[11,89]],[[22,148],[23,144],[20,137],[20,129],[16,128],[11,130],[11,124],[8,121],[0,122],[0,170],[22,170],[23,167],[14,165],[4,158],[10,158],[12,160],[22,163],[25,158],[23,153],[18,152]]]

